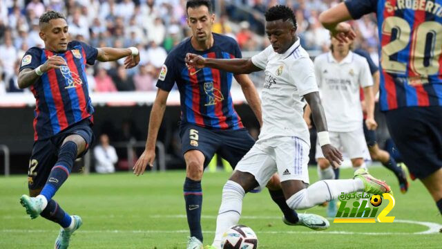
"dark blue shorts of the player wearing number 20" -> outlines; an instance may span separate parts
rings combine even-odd
[[[390,135],[414,178],[442,168],[442,107],[404,107],[385,113]]]

